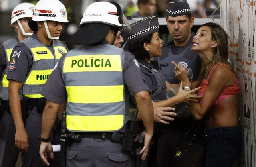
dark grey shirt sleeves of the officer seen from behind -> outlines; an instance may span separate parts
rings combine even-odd
[[[103,40],[97,45],[109,44],[107,40]],[[110,45],[110,44],[109,44]],[[135,63],[135,57],[132,53],[128,51],[123,51],[125,61],[123,64],[123,79],[125,86],[133,94],[137,94],[143,90],[149,91],[143,77],[141,75],[139,65]],[[50,77],[42,87],[40,94],[44,96],[47,100],[52,102],[62,104],[67,99],[65,83],[62,78],[63,61],[66,54],[64,54],[58,64],[54,67]]]

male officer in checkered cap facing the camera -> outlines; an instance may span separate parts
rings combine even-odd
[[[191,28],[194,18],[191,17],[189,4],[186,0],[172,0],[167,6],[166,14],[167,28],[173,41],[163,46],[162,56],[155,60],[158,61],[166,81],[170,83],[167,83],[167,89],[178,86],[179,83],[179,80],[174,76],[175,69],[171,64],[172,61],[180,62],[184,67],[192,69],[194,82],[191,87],[196,88],[201,60],[196,52],[191,51],[194,37]],[[157,149],[159,167],[170,166],[172,157],[175,156],[177,147],[192,122],[193,118],[191,117],[185,120],[175,118],[173,122],[164,127],[164,133],[159,138]]]

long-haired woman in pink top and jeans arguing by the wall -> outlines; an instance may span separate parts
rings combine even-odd
[[[202,59],[198,86],[200,102],[189,108],[195,120],[205,120],[205,167],[232,167],[239,160],[241,137],[238,128],[239,87],[228,62],[228,34],[213,22],[203,24],[191,48]],[[182,65],[175,65],[175,77],[191,88]],[[186,88],[189,90],[189,88]]]

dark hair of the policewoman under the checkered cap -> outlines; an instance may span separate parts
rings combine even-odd
[[[133,53],[136,59],[150,59],[149,52],[144,49],[144,43],[150,43],[152,39],[153,33],[145,35],[135,41],[132,41],[129,44],[128,51]]]

